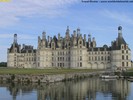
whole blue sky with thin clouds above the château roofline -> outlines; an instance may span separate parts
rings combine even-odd
[[[110,46],[118,36],[118,26],[122,26],[123,37],[133,50],[133,3],[0,0],[0,62],[7,61],[7,48],[13,43],[15,33],[19,44],[37,48],[38,36],[43,31],[47,36],[58,33],[65,36],[67,26],[71,34],[77,28],[82,34],[91,34],[98,47]]]

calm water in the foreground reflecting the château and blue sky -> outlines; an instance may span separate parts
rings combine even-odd
[[[40,85],[0,82],[0,100],[133,100],[133,83],[101,79]]]

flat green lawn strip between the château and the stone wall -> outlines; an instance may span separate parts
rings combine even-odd
[[[101,71],[98,69],[27,69],[27,68],[0,68],[0,74],[66,74]]]

